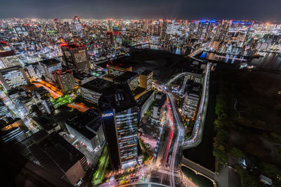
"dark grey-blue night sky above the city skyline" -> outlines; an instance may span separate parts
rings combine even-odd
[[[0,18],[281,20],[281,0],[0,0]]]

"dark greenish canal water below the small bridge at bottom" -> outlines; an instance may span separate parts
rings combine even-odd
[[[181,170],[183,173],[185,173],[188,178],[192,179],[193,182],[197,184],[197,186],[200,187],[213,187],[213,182],[209,179],[205,178],[204,176],[200,174],[195,174],[191,169],[188,169],[187,167],[181,167]]]

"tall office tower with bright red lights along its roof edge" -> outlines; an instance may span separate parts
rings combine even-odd
[[[69,68],[75,68],[77,72],[89,73],[91,70],[89,57],[87,55],[86,46],[79,46],[77,44],[60,45],[63,50],[63,58],[65,60],[65,65]]]

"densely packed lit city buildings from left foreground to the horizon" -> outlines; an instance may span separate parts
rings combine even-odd
[[[77,185],[89,164],[88,155],[62,132],[90,154],[106,144],[113,170],[141,165],[141,118],[147,114],[153,123],[162,122],[166,95],[152,89],[153,71],[134,72],[121,60],[128,47],[209,43],[209,50],[220,53],[233,53],[234,47],[241,55],[279,52],[280,30],[277,23],[230,20],[0,20],[1,143],[15,146],[28,160],[26,169],[32,166],[48,183],[62,186]],[[98,68],[100,76],[97,61],[106,63],[106,69]],[[202,69],[188,71],[178,91],[181,114],[188,120],[195,118],[200,102]],[[78,96],[89,107],[74,104]],[[83,110],[58,125],[52,119],[58,102]]]

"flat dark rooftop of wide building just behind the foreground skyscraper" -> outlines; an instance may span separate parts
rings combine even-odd
[[[93,90],[94,92],[103,93],[106,88],[110,87],[113,83],[110,81],[106,81],[102,78],[95,78],[84,85],[81,85],[82,88],[86,88],[88,90]]]

